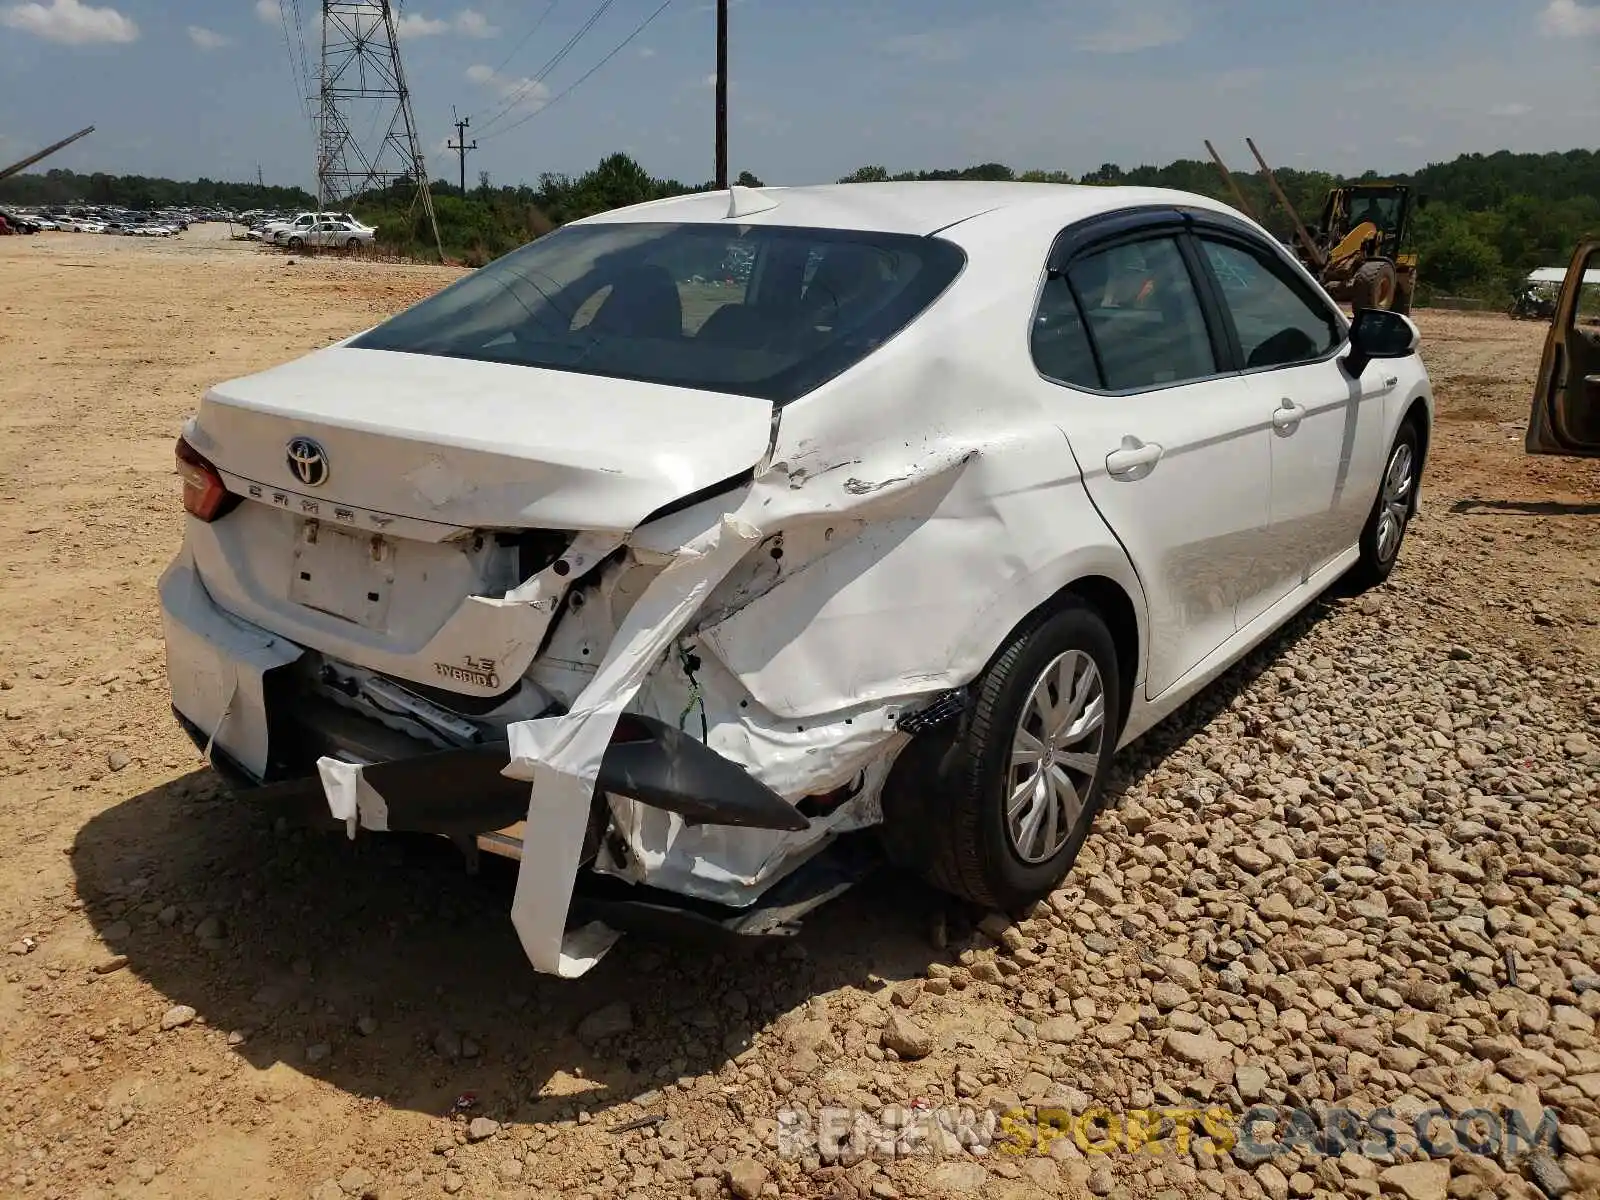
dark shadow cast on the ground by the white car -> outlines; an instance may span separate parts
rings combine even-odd
[[[1118,757],[1107,803],[1198,733],[1330,603],[1298,616]],[[285,1062],[360,1098],[443,1115],[462,1093],[499,1120],[608,1109],[715,1072],[813,997],[875,992],[950,962],[981,914],[880,870],[795,941],[629,936],[587,976],[536,974],[512,931],[515,864],[469,875],[443,838],[310,834],[194,771],[94,816],[72,848],[99,936],[165,1003],[240,1032],[258,1069]],[[941,938],[934,930],[947,930]],[[629,1002],[632,1029],[576,1035]]]

